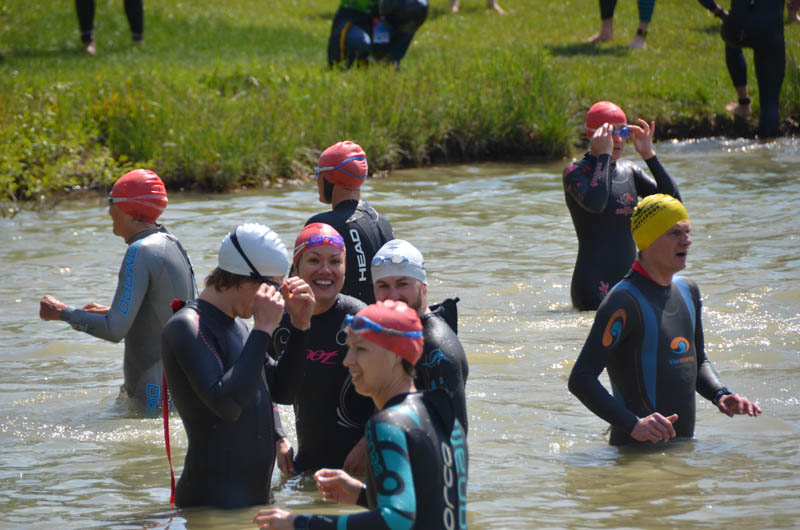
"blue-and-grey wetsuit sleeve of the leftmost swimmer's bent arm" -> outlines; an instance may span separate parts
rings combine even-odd
[[[108,312],[99,315],[68,306],[61,311],[61,320],[68,322],[76,330],[84,331],[94,337],[112,342],[121,341],[128,334],[147,296],[147,289],[150,286],[148,269],[152,260],[153,257],[142,252],[138,244],[130,245],[122,259],[117,292]]]

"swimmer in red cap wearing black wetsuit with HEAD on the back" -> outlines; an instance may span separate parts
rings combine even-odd
[[[317,188],[319,201],[332,209],[314,215],[306,224],[324,223],[341,234],[347,256],[342,294],[370,304],[375,301],[370,261],[394,234],[389,221],[361,199],[367,169],[367,155],[356,143],[339,142],[325,149],[316,168]]]

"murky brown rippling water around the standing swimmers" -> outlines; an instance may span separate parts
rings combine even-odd
[[[697,439],[668,448],[608,446],[605,424],[566,390],[593,315],[569,303],[577,242],[563,162],[410,170],[365,186],[424,253],[431,301],[462,300],[473,528],[800,526],[800,142],[658,151],[694,225],[687,274],[703,293],[709,356],[765,411],[729,419],[701,398]],[[163,220],[203,277],[237,224],[292,241],[322,208],[310,186],[173,194]],[[121,345],[38,320],[43,294],[111,298],[124,243],[102,201],[0,223],[0,526],[251,527],[254,509],[171,510],[161,421],[117,401]],[[170,430],[179,471],[177,416]],[[295,510],[345,510],[319,501],[308,477],[276,475],[273,493]]]

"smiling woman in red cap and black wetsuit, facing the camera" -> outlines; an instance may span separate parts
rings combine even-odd
[[[363,474],[364,425],[372,401],[356,392],[347,368],[345,318],[364,303],[341,294],[345,246],[333,227],[312,223],[297,236],[286,280],[286,311],[272,336],[269,354],[281,366],[273,399],[294,407],[297,456],[278,448],[278,467],[287,474],[344,468]]]

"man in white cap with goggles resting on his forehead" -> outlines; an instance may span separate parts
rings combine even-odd
[[[383,245],[372,258],[375,298],[401,300],[417,312],[424,331],[422,357],[416,365],[417,390],[444,388],[453,398],[458,421],[467,432],[467,398],[464,387],[469,364],[455,330],[442,311],[428,307],[428,280],[422,253],[403,239]],[[455,300],[452,301],[455,307]],[[440,304],[440,307],[442,304]]]

